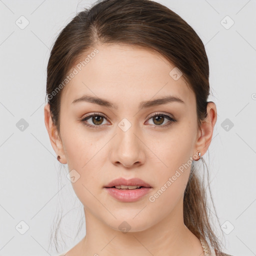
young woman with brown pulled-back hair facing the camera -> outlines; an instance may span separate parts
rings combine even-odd
[[[62,255],[227,255],[195,166],[216,122],[208,77],[198,35],[154,1],[99,1],[63,28],[45,125],[86,235]]]

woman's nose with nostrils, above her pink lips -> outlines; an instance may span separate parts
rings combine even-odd
[[[117,127],[117,134],[113,139],[110,160],[114,165],[131,168],[145,162],[145,145],[135,125],[131,125],[126,131]]]

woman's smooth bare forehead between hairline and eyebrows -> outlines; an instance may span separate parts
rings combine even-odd
[[[98,52],[90,54],[94,49]],[[188,105],[194,101],[183,77],[174,80],[170,76],[175,66],[148,48],[99,44],[87,51],[81,61],[71,68],[71,71],[76,69],[76,74],[63,88],[61,104],[70,105],[83,94],[103,97],[117,105],[127,103],[124,98],[132,103],[162,95],[178,96]]]

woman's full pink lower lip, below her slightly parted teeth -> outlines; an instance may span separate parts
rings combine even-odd
[[[152,187],[141,187],[136,189],[118,189],[114,187],[104,187],[115,199],[122,202],[134,202],[147,194]]]

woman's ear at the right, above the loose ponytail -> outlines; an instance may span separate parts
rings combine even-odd
[[[207,103],[207,117],[202,121],[198,130],[198,138],[195,143],[194,154],[197,150],[201,152],[201,156],[207,151],[214,129],[214,125],[217,120],[217,110],[214,102],[209,101]],[[197,158],[198,159],[198,158]]]

